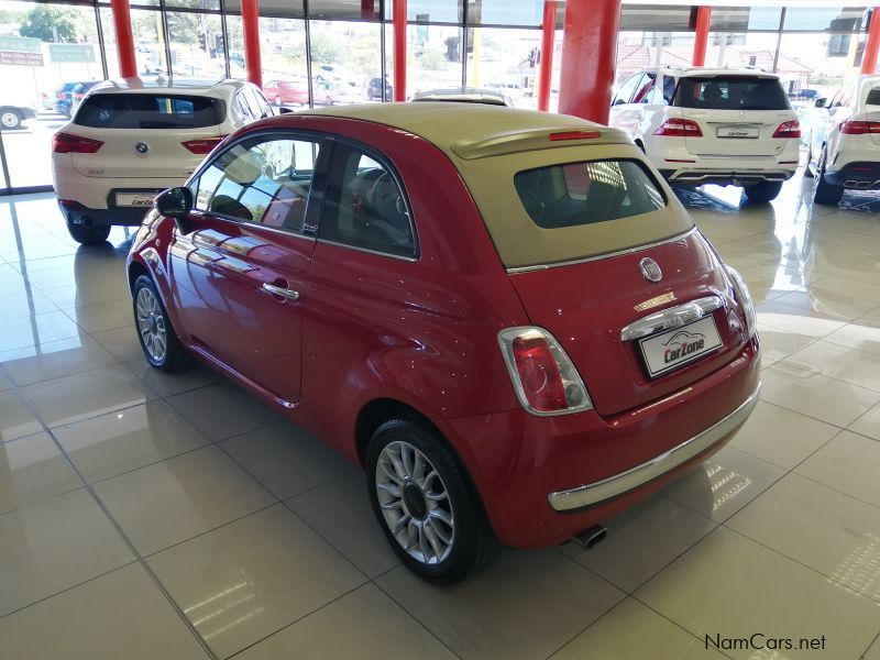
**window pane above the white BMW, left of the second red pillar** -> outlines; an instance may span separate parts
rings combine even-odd
[[[169,11],[166,13],[172,73],[177,76],[226,76],[220,14]]]

